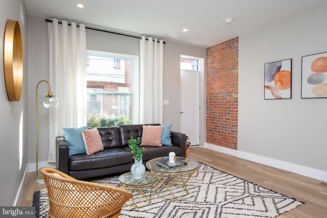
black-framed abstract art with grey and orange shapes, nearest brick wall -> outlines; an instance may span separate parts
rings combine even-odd
[[[292,98],[292,59],[265,64],[265,99]]]

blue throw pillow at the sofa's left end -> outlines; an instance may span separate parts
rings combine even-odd
[[[82,130],[87,130],[87,126],[80,128],[62,128],[63,136],[68,143],[68,155],[85,154]]]

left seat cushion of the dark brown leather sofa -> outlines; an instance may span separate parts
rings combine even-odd
[[[133,155],[123,149],[105,149],[91,155],[69,157],[69,171],[85,171],[131,163]]]

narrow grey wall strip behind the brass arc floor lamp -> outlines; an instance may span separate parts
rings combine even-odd
[[[36,123],[35,123],[35,89],[40,80],[49,80],[48,74],[48,24],[44,18],[28,16],[28,144],[29,163],[35,163]],[[48,85],[40,83],[38,87],[38,159],[39,162],[48,160],[48,110],[42,102],[48,94]],[[54,92],[56,95],[56,93]],[[45,166],[40,164],[39,167]],[[35,164],[33,164],[35,171]]]

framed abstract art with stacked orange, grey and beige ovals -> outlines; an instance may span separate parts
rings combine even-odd
[[[327,52],[302,57],[301,98],[327,98]]]

